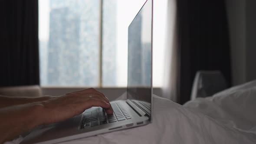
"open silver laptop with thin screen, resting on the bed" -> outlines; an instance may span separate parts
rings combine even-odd
[[[54,144],[151,123],[152,14],[147,0],[128,27],[127,99],[112,101],[113,115],[92,107],[67,121],[35,128],[21,144]]]

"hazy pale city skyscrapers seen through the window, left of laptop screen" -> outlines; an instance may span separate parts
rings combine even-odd
[[[41,84],[97,86],[99,0],[61,0],[61,4],[59,2],[50,0],[49,41],[40,41]],[[116,0],[110,2],[104,5],[103,27],[111,31],[103,30],[102,42],[105,69],[102,72],[102,80],[108,86],[116,83],[116,58],[112,56],[116,53]]]

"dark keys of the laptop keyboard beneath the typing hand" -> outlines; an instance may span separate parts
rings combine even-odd
[[[131,119],[131,116],[127,111],[125,111],[125,108],[123,108],[120,103],[113,103],[111,106],[114,111],[112,115],[106,115],[104,109],[101,107],[92,107],[85,110],[82,118],[81,128]]]

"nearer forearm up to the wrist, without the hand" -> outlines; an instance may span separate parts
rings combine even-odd
[[[16,105],[0,109],[0,144],[43,124],[40,103]]]

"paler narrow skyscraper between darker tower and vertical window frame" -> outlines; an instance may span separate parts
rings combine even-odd
[[[100,57],[100,1],[79,0],[78,4],[79,6],[77,6],[77,9],[81,15],[79,39],[81,85],[98,86]]]

